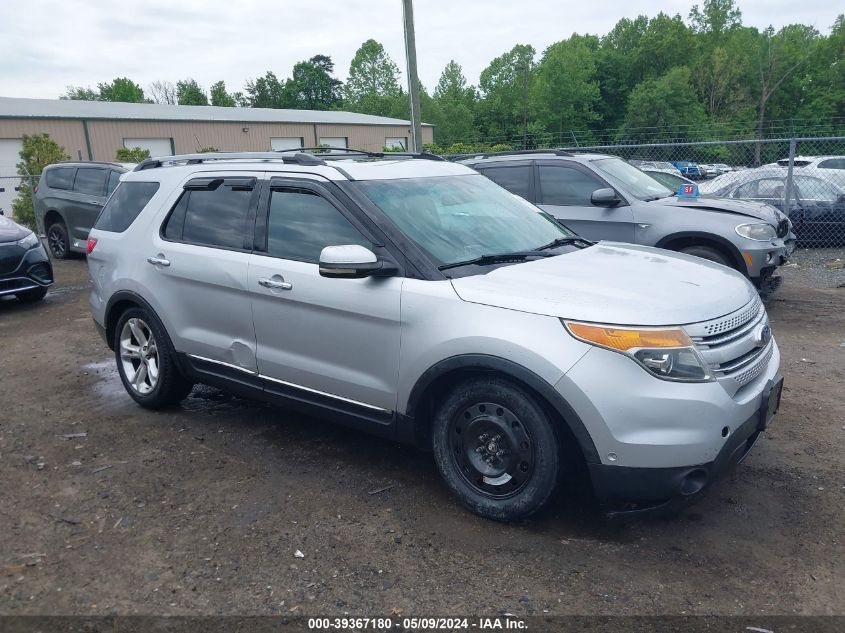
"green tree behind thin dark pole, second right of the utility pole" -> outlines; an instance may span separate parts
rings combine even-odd
[[[481,71],[478,123],[491,141],[522,139],[534,121],[530,100],[536,76],[534,55],[533,46],[517,44]]]

